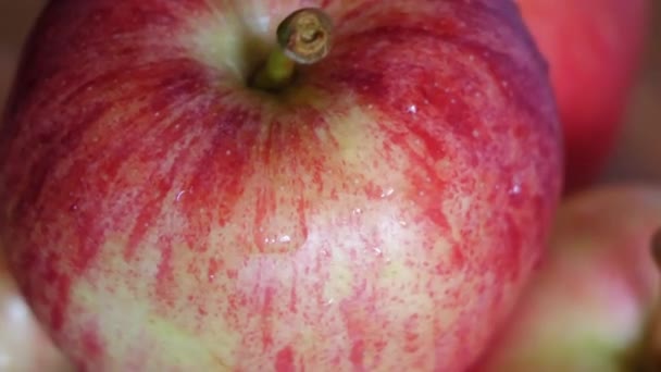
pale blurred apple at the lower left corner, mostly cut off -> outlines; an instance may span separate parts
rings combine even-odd
[[[0,371],[71,370],[35,321],[0,256]]]

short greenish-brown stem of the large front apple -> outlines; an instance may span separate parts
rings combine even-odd
[[[330,50],[333,22],[321,9],[304,8],[280,22],[276,33],[277,46],[252,75],[255,88],[283,89],[291,83],[297,64],[323,60]]]

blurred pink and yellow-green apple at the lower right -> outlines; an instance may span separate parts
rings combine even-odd
[[[601,186],[568,200],[548,258],[475,371],[638,371],[654,362],[645,344],[661,317],[650,249],[660,227],[658,187]]]

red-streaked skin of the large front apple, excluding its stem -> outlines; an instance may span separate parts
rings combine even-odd
[[[0,133],[0,244],[82,371],[459,371],[562,182],[511,1],[51,2]],[[334,49],[246,87],[303,5]],[[242,20],[242,21],[240,21]]]

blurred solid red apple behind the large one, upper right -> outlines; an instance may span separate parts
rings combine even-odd
[[[612,153],[638,71],[649,0],[517,0],[550,65],[565,142],[568,193]]]

